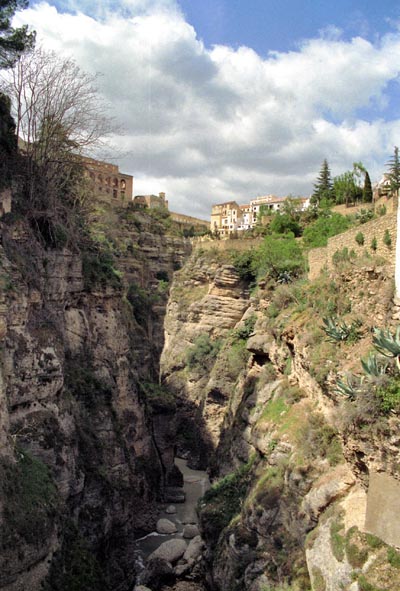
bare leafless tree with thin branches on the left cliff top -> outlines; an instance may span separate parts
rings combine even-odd
[[[60,196],[78,197],[73,186],[82,156],[101,145],[112,128],[96,78],[74,60],[60,59],[40,47],[22,54],[2,74],[27,161],[31,203],[38,201],[39,193],[40,201],[47,197],[47,208],[60,204]]]

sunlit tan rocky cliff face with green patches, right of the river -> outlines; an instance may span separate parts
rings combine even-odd
[[[393,326],[390,274],[353,264],[250,297],[224,257],[197,253],[177,274],[161,364],[180,453],[217,477],[201,507],[211,588],[396,589],[397,554],[366,512],[370,474],[397,478],[398,418],[337,391],[372,327]],[[329,314],[354,322],[353,340],[327,339]]]

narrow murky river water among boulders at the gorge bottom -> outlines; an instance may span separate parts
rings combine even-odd
[[[186,523],[197,523],[196,505],[200,497],[204,495],[210,486],[210,481],[206,472],[202,470],[192,470],[188,468],[187,461],[175,458],[175,464],[183,474],[183,490],[186,495],[184,503],[177,503],[176,513],[165,513],[166,505],[160,508],[159,518],[166,518],[176,524],[177,532],[175,534],[159,534],[152,532],[147,536],[137,540],[137,566],[143,568],[144,560],[160,544],[166,540],[182,538],[183,527]]]

